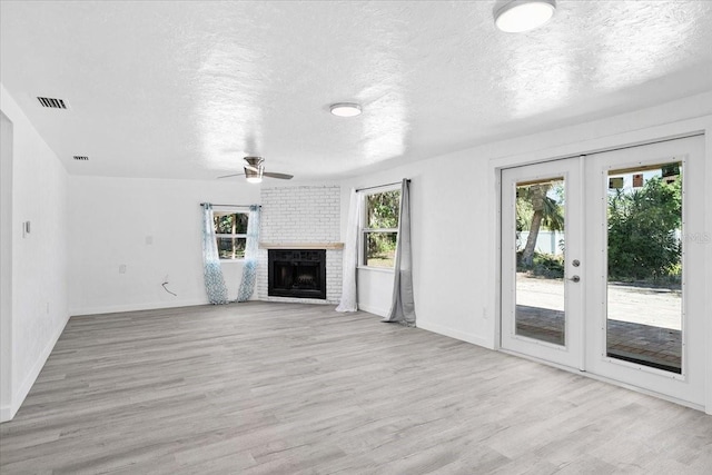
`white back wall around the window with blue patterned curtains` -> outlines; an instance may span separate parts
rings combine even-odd
[[[72,176],[70,186],[71,315],[208,304],[199,204],[259,202],[259,186],[239,179]],[[230,297],[241,269],[241,261],[222,265]],[[164,290],[166,276],[177,297]]]

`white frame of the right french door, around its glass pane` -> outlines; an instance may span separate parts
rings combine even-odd
[[[595,207],[596,212],[590,214],[587,224],[591,227],[587,236],[596,241],[587,253],[587,281],[592,299],[586,310],[591,319],[586,323],[590,331],[587,352],[587,370],[606,378],[620,379],[624,383],[646,387],[655,394],[669,394],[676,400],[688,400],[689,405],[704,407],[704,379],[708,363],[704,362],[704,328],[702,318],[704,310],[704,279],[708,269],[703,268],[700,254],[703,248],[683,246],[682,256],[682,374],[655,368],[643,363],[627,362],[622,358],[607,356],[606,326],[609,321],[609,277],[607,248],[609,225],[605,202],[609,189],[609,172],[611,170],[629,169],[629,174],[641,168],[682,161],[683,164],[683,209],[682,231],[699,229],[704,218],[704,204],[700,199],[689,200],[688,197],[704,195],[702,170],[705,168],[702,137],[690,137],[675,141],[652,142],[649,146],[619,149],[610,152],[591,155],[586,164],[589,179],[596,185],[586,192],[587,205]],[[620,175],[614,172],[613,175]],[[595,179],[594,179],[595,177]],[[691,195],[694,194],[694,195]],[[601,204],[599,204],[601,202]],[[603,206],[601,206],[603,205]],[[691,218],[694,217],[694,220]],[[691,228],[692,226],[692,228]],[[597,244],[600,243],[600,245]],[[602,256],[599,255],[602,253]]]

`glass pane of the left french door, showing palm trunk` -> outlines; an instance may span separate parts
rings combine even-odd
[[[516,313],[520,336],[565,345],[564,179],[516,186]]]

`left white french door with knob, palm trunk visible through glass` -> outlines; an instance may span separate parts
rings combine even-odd
[[[581,189],[580,158],[502,171],[502,347],[570,367],[583,365]]]

